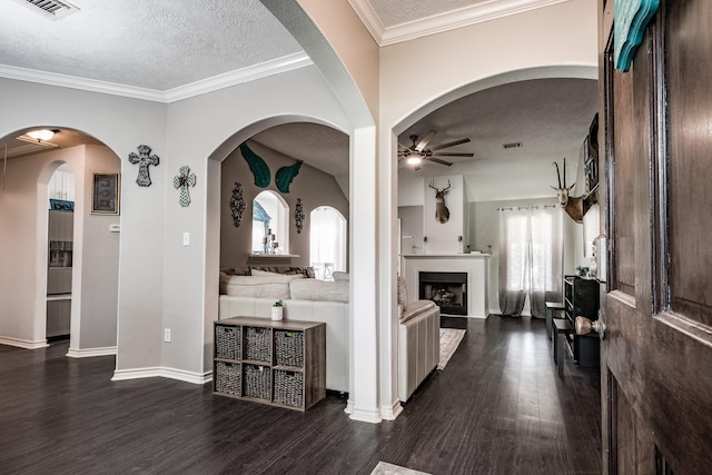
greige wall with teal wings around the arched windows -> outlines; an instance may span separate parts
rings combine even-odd
[[[291,265],[309,265],[309,215],[319,206],[336,208],[348,221],[348,199],[344,196],[333,176],[317,170],[306,164],[301,165],[299,174],[289,186],[289,192],[283,194],[275,185],[276,171],[285,166],[295,164],[294,158],[286,157],[275,150],[248,140],[249,148],[261,157],[269,166],[271,179],[266,188],[255,186],[255,177],[239,149],[236,149],[222,161],[220,190],[220,267],[241,267],[247,264],[251,250],[253,232],[253,200],[259,192],[271,190],[280,195],[289,206],[289,253],[299,255],[291,260]],[[235,227],[230,214],[230,197],[235,182],[243,185],[245,211],[239,227]],[[304,228],[297,234],[294,211],[297,198],[301,198],[304,207]]]

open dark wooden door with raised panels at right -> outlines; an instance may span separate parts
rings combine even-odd
[[[712,2],[661,0],[629,72],[600,1],[604,469],[712,471]]]

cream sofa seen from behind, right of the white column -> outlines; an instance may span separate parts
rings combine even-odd
[[[408,304],[399,277],[398,313],[398,398],[405,403],[439,363],[441,309],[431,300]]]

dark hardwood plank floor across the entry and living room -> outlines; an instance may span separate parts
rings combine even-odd
[[[1,474],[601,473],[600,382],[556,376],[543,320],[443,318],[459,348],[394,422],[366,424],[328,394],[306,413],[165,378],[111,382],[113,357],[67,342],[0,345]]]

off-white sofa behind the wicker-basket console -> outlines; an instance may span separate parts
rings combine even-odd
[[[286,320],[324,321],[326,324],[326,388],[349,392],[347,280],[324,281],[301,276],[289,279],[261,274],[259,276],[221,275],[220,280],[219,319],[238,316],[269,318],[273,305],[280,299]],[[238,295],[227,295],[228,291]],[[291,298],[293,294],[297,298]]]

